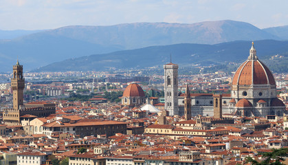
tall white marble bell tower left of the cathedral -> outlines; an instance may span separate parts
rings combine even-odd
[[[164,65],[165,109],[169,115],[178,115],[178,65]]]

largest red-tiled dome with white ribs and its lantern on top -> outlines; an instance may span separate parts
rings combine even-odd
[[[276,85],[272,72],[258,61],[254,44],[250,56],[235,72],[232,85]]]

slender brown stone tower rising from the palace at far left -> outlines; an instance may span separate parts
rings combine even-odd
[[[13,66],[13,78],[11,78],[11,87],[13,90],[13,109],[18,110],[23,106],[23,90],[25,79],[23,78],[23,65],[17,61]]]

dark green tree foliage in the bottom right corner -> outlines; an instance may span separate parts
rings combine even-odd
[[[288,156],[288,148],[272,149],[272,152],[262,153],[265,159],[262,162],[257,162],[252,157],[246,157],[245,163],[251,163],[252,165],[278,165],[283,164],[286,157]]]

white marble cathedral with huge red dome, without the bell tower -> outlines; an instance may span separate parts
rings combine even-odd
[[[179,115],[184,115],[184,97],[178,99]],[[190,94],[191,115],[214,115],[213,94]],[[173,101],[172,101],[173,102]],[[231,94],[221,98],[223,114],[241,116],[266,116],[285,113],[285,104],[276,97],[276,82],[269,68],[256,56],[254,43],[250,55],[236,70],[232,80]]]

